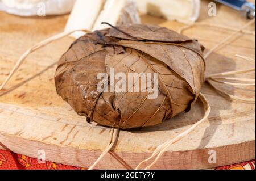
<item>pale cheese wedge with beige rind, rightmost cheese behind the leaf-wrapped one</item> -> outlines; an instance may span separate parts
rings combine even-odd
[[[200,13],[200,0],[137,0],[142,13],[191,24]]]

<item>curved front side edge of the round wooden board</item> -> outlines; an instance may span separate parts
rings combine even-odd
[[[57,146],[0,133],[0,149],[47,161],[88,168],[101,151]],[[133,169],[150,153],[116,153],[110,151],[96,169]],[[214,159],[216,158],[216,159]],[[167,151],[152,169],[210,169],[255,159],[255,140],[216,148]],[[215,162],[216,161],[216,162]]]

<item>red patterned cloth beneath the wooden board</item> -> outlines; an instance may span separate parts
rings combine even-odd
[[[38,159],[0,150],[0,170],[85,170],[85,168],[54,162],[38,163]],[[216,170],[255,170],[255,159],[243,163],[215,168]]]

